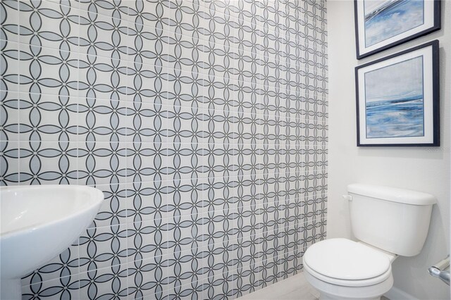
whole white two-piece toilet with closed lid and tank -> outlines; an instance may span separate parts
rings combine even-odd
[[[304,275],[326,299],[381,299],[393,286],[397,256],[423,248],[435,197],[377,185],[347,186],[351,228],[358,242],[326,239],[304,253]]]

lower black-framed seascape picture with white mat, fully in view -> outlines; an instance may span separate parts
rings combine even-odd
[[[355,68],[357,146],[440,146],[438,40]]]

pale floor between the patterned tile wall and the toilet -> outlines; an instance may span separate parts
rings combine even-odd
[[[299,273],[285,280],[242,296],[240,300],[318,300],[319,292]],[[390,300],[385,296],[381,300]]]

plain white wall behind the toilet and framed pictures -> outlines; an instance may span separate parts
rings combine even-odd
[[[451,1],[442,1],[442,29],[357,61],[353,1],[328,2],[330,67],[328,238],[352,237],[347,203],[341,198],[352,182],[389,185],[434,194],[428,239],[419,256],[393,263],[395,287],[418,299],[450,299],[450,290],[427,268],[450,253],[450,82]],[[439,148],[356,146],[354,67],[412,46],[440,40]]]

